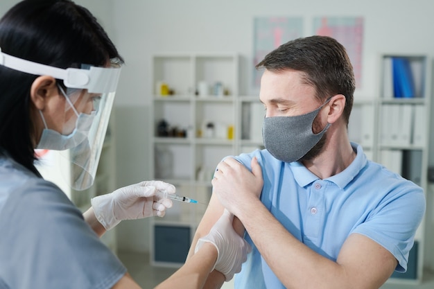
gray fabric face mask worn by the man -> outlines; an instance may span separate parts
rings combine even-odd
[[[330,99],[329,99],[330,100]],[[312,132],[312,124],[321,108],[329,102],[327,100],[318,109],[300,116],[273,116],[263,119],[263,144],[270,154],[280,161],[298,161],[315,146],[330,127],[318,134]]]

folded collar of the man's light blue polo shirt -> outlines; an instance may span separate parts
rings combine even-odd
[[[356,143],[351,143],[351,147],[356,150],[357,155],[356,158],[349,164],[345,170],[338,173],[338,175],[332,175],[328,177],[327,180],[333,182],[340,189],[344,189],[349,182],[351,182],[358,173],[362,170],[364,166],[366,166],[367,158],[363,153],[363,148]],[[295,181],[299,186],[307,186],[315,182],[317,179],[320,179],[317,175],[313,174],[310,170],[308,170],[303,164],[299,161],[293,161],[289,163],[290,169],[293,171],[293,175]]]

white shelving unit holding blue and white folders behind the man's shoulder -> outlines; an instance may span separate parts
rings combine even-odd
[[[393,58],[408,61],[414,93],[397,97],[394,88]],[[360,143],[367,156],[410,179],[428,192],[428,141],[430,135],[431,71],[426,55],[383,54],[377,98],[356,100],[349,121],[349,137]],[[398,94],[399,96],[399,94]],[[429,208],[427,208],[429,209]],[[411,213],[411,212],[403,212]],[[425,220],[417,229],[415,247],[410,252],[408,272],[394,273],[388,283],[413,285],[422,281]]]

